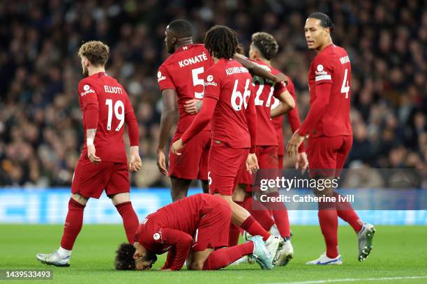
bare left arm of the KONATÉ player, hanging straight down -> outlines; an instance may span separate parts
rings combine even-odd
[[[165,146],[169,139],[170,129],[178,113],[177,93],[173,89],[162,91],[163,110],[160,118],[160,136],[157,145],[157,167],[160,173],[168,175],[166,166]]]

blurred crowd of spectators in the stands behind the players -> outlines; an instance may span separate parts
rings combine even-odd
[[[256,31],[280,46],[273,65],[294,81],[301,120],[309,109],[307,72],[315,56],[306,17],[327,13],[332,38],[352,62],[354,145],[348,167],[417,168],[427,164],[427,2],[417,0],[1,1],[0,185],[70,186],[83,143],[77,49],[87,40],[111,47],[107,73],[126,88],[140,125],[138,187],[168,187],[156,167],[162,108],[156,74],[168,54],[164,32],[188,19],[194,42],[214,24],[250,45]],[[290,127],[285,123],[286,141]],[[294,162],[285,159],[285,166]]]

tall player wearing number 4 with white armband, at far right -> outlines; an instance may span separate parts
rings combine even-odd
[[[347,52],[332,43],[331,19],[324,13],[313,13],[304,27],[309,49],[317,56],[308,72],[310,88],[310,111],[299,130],[287,143],[288,155],[296,155],[297,149],[308,137],[307,156],[312,178],[337,178],[352,148],[352,126],[350,123],[351,64]],[[328,188],[313,189],[317,196],[339,194]],[[320,258],[307,262],[308,265],[341,265],[338,253],[338,216],[357,232],[359,242],[358,260],[365,260],[371,249],[375,232],[373,225],[364,223],[354,212],[350,203],[320,202],[319,223],[327,246]]]

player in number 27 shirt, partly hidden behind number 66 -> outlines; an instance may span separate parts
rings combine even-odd
[[[271,59],[276,56],[277,52],[278,44],[274,37],[269,33],[254,33],[252,35],[252,43],[249,49],[250,60],[262,65],[266,70],[269,70],[269,72],[272,72],[273,74],[279,73],[279,71],[273,68],[270,63]],[[255,92],[255,109],[257,111],[256,155],[260,168],[268,171],[268,173],[262,173],[263,176],[258,173],[257,178],[275,179],[278,174],[278,140],[273,123],[271,123],[271,103],[273,102],[273,97],[277,97],[278,100],[282,102],[280,107],[277,107],[274,110],[274,116],[281,116],[283,113],[287,113],[293,109],[295,107],[295,102],[283,82],[274,83],[255,76],[253,77],[253,86]],[[255,216],[255,219],[258,217],[257,220],[259,220],[260,223],[269,221],[272,226],[274,221],[271,219],[269,210],[252,210],[253,176],[247,171],[244,171],[241,173],[238,182],[239,184],[233,194],[234,202],[240,202],[246,210]],[[278,191],[271,192],[270,195],[278,196]],[[285,228],[285,230],[280,232],[281,237],[285,239],[285,246],[278,261],[278,265],[284,265],[285,262],[287,263],[287,261],[293,257],[287,211],[283,203],[278,203],[275,205],[275,208],[270,209],[274,209],[275,216],[280,216],[277,220],[275,219],[276,224],[279,225],[280,223],[280,228]],[[284,216],[285,218],[282,218],[284,213],[286,216]],[[265,216],[259,216],[260,214],[264,214]],[[238,238],[239,231],[237,230],[234,242],[237,242]]]

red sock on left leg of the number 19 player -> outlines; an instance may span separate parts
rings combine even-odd
[[[83,225],[83,212],[85,205],[78,203],[73,198],[68,201],[68,213],[63,226],[61,247],[68,251],[73,250],[73,245]]]

